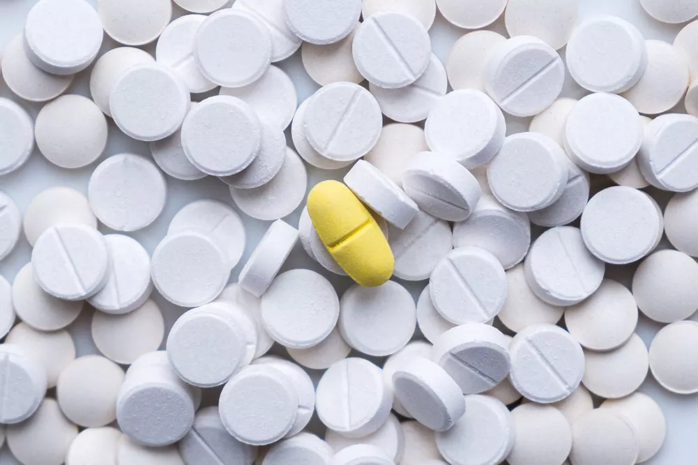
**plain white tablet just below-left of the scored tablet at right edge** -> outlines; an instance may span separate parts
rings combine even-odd
[[[659,244],[662,211],[649,195],[613,186],[594,195],[581,214],[581,237],[591,253],[606,263],[640,260]]]

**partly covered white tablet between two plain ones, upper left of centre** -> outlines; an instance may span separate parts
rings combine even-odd
[[[240,4],[242,3],[235,3]],[[237,97],[248,103],[262,121],[281,131],[291,124],[298,106],[293,81],[276,66],[270,66],[267,72],[252,84],[243,87],[223,87],[221,95]]]

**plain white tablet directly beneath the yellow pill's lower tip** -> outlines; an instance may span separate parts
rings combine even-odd
[[[395,281],[366,288],[355,284],[341,298],[339,330],[361,353],[383,357],[408,343],[417,325],[412,296]]]

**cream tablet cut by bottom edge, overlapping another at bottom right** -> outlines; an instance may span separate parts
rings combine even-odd
[[[630,422],[606,408],[596,408],[572,425],[570,461],[574,465],[630,465],[637,462],[638,452]]]

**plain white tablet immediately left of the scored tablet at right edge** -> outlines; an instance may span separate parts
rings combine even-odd
[[[628,165],[642,144],[637,110],[615,94],[591,94],[574,105],[565,125],[565,149],[587,171],[606,174]]]

